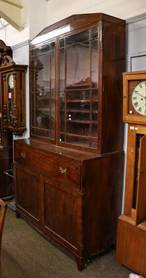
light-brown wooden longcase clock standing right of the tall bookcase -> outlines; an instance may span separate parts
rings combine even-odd
[[[118,220],[117,263],[146,277],[146,72],[123,74],[128,123],[124,214]]]

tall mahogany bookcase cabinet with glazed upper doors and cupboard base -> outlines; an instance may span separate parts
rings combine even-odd
[[[16,214],[82,270],[116,242],[123,179],[125,22],[72,15],[30,44],[30,130],[15,140]]]

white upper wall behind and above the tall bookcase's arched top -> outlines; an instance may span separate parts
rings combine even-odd
[[[0,38],[7,45],[32,40],[43,28],[60,19],[80,13],[107,13],[122,19],[146,13],[146,0],[22,0],[22,26],[0,29]],[[5,40],[6,37],[6,40]]]

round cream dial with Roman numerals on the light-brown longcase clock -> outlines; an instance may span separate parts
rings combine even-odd
[[[138,83],[133,89],[131,101],[136,112],[146,116],[146,80]]]

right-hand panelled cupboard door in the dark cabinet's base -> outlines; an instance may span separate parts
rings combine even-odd
[[[42,177],[44,229],[74,252],[81,252],[82,194],[48,177]]]

